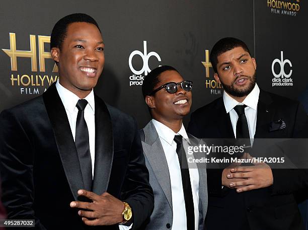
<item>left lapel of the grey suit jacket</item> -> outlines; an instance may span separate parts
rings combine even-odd
[[[165,152],[155,126],[150,121],[144,128],[143,152],[172,209],[171,182]]]

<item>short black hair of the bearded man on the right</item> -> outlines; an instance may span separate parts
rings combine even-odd
[[[216,42],[210,53],[210,60],[214,71],[217,73],[218,56],[226,51],[232,50],[236,47],[242,47],[246,52],[250,54],[248,46],[240,39],[237,38],[222,38]]]

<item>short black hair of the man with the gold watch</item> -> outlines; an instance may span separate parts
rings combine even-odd
[[[66,36],[67,26],[74,22],[87,22],[94,24],[101,32],[97,22],[91,16],[82,13],[67,15],[64,18],[61,18],[54,25],[50,36],[50,49],[53,47],[61,49],[62,42]]]

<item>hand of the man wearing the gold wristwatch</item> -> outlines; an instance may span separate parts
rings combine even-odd
[[[97,195],[87,190],[79,190],[78,195],[88,197],[93,200],[92,203],[73,201],[70,207],[78,209],[78,214],[82,216],[82,220],[87,225],[112,225],[122,222],[122,212],[124,203],[105,192],[102,195]]]

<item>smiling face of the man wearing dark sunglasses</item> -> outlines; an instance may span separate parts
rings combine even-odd
[[[169,82],[180,83],[184,81],[182,76],[175,70],[162,72],[159,79],[160,83],[155,89]],[[164,121],[172,122],[183,119],[190,111],[191,97],[191,92],[184,91],[178,85],[176,93],[170,94],[164,88],[152,96],[146,96],[145,102],[151,108],[152,117],[164,123]]]

